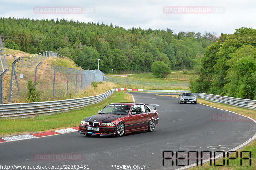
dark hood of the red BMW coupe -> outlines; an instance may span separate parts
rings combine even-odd
[[[96,114],[89,117],[85,117],[83,121],[90,121],[90,122],[112,122],[120,117],[124,117],[126,115],[116,115],[116,114]]]

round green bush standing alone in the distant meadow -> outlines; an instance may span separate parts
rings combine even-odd
[[[151,65],[151,71],[157,78],[164,78],[171,73],[170,67],[163,61],[155,61]]]

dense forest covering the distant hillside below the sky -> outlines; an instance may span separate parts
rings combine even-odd
[[[104,23],[11,17],[0,17],[0,35],[6,48],[32,54],[56,51],[83,69],[97,69],[100,58],[104,73],[151,71],[154,61],[163,61],[171,69],[199,71],[206,47],[216,41],[208,31],[176,34],[171,29],[126,30]]]

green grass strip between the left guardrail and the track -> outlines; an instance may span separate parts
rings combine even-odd
[[[0,134],[36,132],[60,127],[79,126],[83,118],[97,114],[97,111],[101,110],[107,104],[115,102],[132,102],[132,97],[124,92],[115,92],[104,101],[86,106],[80,110],[72,110],[53,115],[37,115],[33,118],[1,120]]]

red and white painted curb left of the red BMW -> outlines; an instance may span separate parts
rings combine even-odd
[[[43,136],[57,135],[61,133],[74,132],[74,131],[78,131],[79,130],[78,128],[79,126],[76,126],[73,128],[60,129],[56,131],[46,131],[46,132],[33,133],[28,135],[3,137],[3,138],[0,138],[0,142],[9,142],[9,141],[15,141],[15,140],[31,139],[31,138],[37,138],[37,137],[43,137]]]

